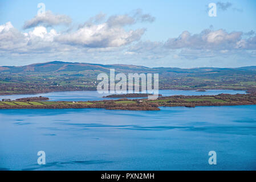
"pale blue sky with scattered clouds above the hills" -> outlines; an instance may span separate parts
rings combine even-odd
[[[217,16],[209,16],[209,3]],[[253,0],[1,0],[0,65],[256,65],[255,10]]]

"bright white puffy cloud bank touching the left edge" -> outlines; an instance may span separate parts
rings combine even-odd
[[[59,34],[45,27],[35,27],[29,32],[20,32],[10,22],[0,26],[0,51],[7,54],[48,53],[67,48],[54,41]]]

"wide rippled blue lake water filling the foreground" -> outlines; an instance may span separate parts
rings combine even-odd
[[[0,110],[0,169],[256,169],[256,105],[160,109]],[[46,165],[37,164],[38,151]],[[208,164],[209,151],[217,165]]]

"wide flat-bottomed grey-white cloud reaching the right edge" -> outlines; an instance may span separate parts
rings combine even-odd
[[[242,32],[226,32],[223,29],[206,29],[200,34],[190,34],[188,31],[182,32],[178,38],[170,38],[165,42],[165,47],[169,49],[255,49],[255,38],[242,39]]]

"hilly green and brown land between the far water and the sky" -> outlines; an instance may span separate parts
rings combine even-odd
[[[96,90],[99,73],[159,73],[160,89],[256,89],[256,67],[148,68],[52,61],[22,67],[0,67],[0,94]]]

